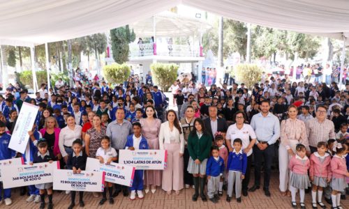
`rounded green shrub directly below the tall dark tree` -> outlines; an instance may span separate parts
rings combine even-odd
[[[105,79],[112,84],[123,84],[131,75],[131,69],[128,65],[112,63],[103,67]]]

